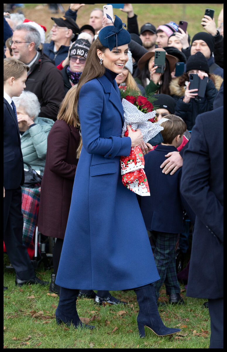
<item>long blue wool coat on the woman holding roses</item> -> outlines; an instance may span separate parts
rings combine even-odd
[[[116,75],[114,76],[114,78]],[[83,147],[56,284],[70,289],[132,289],[159,279],[136,195],[123,186],[123,107],[115,79],[105,75],[80,89]]]

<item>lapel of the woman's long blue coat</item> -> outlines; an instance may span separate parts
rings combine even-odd
[[[117,82],[115,80],[113,81],[113,84],[114,84],[114,87],[113,87],[112,83],[108,80],[108,78],[105,75],[97,78],[97,80],[102,84],[104,92],[110,94],[109,100],[121,115],[122,122],[124,123],[124,110],[123,110],[120,94],[118,94]]]

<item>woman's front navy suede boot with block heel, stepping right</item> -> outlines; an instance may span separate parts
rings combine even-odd
[[[158,336],[173,335],[181,331],[181,329],[167,328],[163,324],[158,313],[153,284],[134,288],[134,291],[140,308],[137,316],[140,337],[145,337],[144,326],[150,328]]]

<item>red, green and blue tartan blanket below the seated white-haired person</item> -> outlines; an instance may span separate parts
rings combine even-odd
[[[21,212],[24,218],[22,240],[24,245],[27,247],[27,251],[30,259],[33,258],[34,252],[35,252],[33,236],[35,232],[35,222],[36,222],[36,218],[39,210],[40,189],[41,187],[37,187],[37,188],[21,187],[21,191],[22,191]],[[38,247],[38,250],[39,250],[39,247]],[[6,252],[5,244],[4,244],[4,252]]]

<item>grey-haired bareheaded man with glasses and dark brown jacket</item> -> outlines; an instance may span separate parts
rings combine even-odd
[[[25,90],[37,95],[41,105],[40,116],[55,121],[59,105],[65,96],[64,83],[51,59],[39,49],[38,30],[27,23],[18,25],[10,44],[14,58],[30,68]]]

